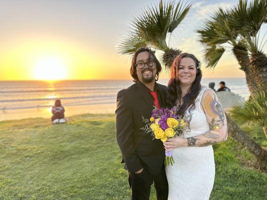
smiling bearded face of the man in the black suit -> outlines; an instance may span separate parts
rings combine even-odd
[[[152,82],[153,80],[155,80],[157,67],[156,67],[155,61],[153,62],[153,60],[154,60],[153,57],[149,58],[148,51],[140,52],[136,56],[136,65],[140,65],[138,66],[139,68],[136,66],[136,73],[137,73],[138,79],[141,82]],[[146,62],[150,66],[148,66]],[[144,63],[146,63],[144,68],[141,68],[142,64]]]

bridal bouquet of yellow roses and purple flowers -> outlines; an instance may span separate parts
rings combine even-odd
[[[143,117],[145,126],[141,129],[146,133],[151,133],[153,139],[161,139],[161,141],[166,141],[168,138],[174,137],[174,135],[179,135],[187,126],[187,123],[181,116],[176,114],[176,110],[176,106],[171,109],[155,107],[152,110],[150,120]],[[172,152],[165,150],[165,165],[173,165],[173,163]]]

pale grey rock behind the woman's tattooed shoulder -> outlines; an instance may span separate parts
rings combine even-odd
[[[244,102],[245,98],[231,91],[218,91],[217,96],[224,108],[230,108],[237,102]]]

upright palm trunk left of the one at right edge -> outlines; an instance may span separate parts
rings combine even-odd
[[[249,57],[248,52],[246,48],[243,48],[241,46],[234,46],[232,48],[232,52],[235,55],[235,58],[237,59],[241,70],[245,72],[245,79],[247,87],[250,91],[250,94],[253,94],[253,91],[257,90],[258,85],[255,81],[255,77],[250,69],[250,63],[249,63]]]

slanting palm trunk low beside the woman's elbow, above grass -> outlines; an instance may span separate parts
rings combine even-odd
[[[244,145],[256,158],[267,161],[267,150],[251,139],[226,113],[229,135]]]

